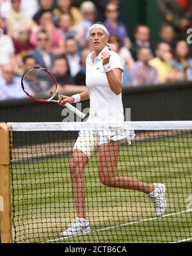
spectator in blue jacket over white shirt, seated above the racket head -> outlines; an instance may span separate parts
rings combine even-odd
[[[48,49],[48,37],[45,31],[40,31],[37,33],[37,46],[34,51],[32,51],[31,55],[35,57],[36,62],[40,64],[43,68],[51,69],[54,54],[51,53]]]

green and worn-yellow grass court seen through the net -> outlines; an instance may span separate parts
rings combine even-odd
[[[192,237],[192,211],[186,212],[188,197],[192,195],[191,156],[191,136],[121,147],[117,174],[166,185],[168,207],[165,217],[157,219],[145,194],[104,187],[100,183],[95,154],[84,170],[86,211],[93,232],[67,239],[62,239],[60,233],[76,216],[68,168],[70,158],[13,164],[15,242],[52,239],[67,243],[173,242],[188,239]]]

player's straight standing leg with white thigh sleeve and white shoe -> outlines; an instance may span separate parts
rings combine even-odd
[[[85,210],[84,167],[95,151],[97,144],[98,140],[95,134],[80,134],[74,145],[70,161],[70,177],[77,217],[70,223],[67,230],[61,233],[63,236],[79,235],[91,231]]]

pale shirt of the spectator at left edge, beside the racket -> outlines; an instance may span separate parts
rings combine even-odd
[[[0,76],[0,85],[0,100],[27,97],[20,86],[19,77],[14,77],[12,82],[8,83],[2,76]]]

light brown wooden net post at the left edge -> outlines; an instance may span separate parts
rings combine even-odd
[[[6,123],[0,123],[0,237],[2,243],[13,242],[11,215],[9,128]]]

